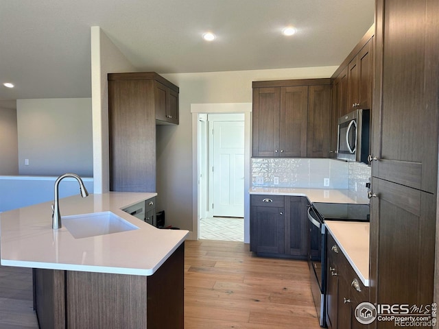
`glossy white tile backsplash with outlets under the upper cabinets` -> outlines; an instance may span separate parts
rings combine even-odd
[[[314,158],[252,158],[252,186],[349,188],[367,193],[370,167]]]

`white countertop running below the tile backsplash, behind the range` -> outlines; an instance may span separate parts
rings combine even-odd
[[[367,195],[358,195],[349,189],[324,189],[324,188],[274,188],[252,187],[250,194],[261,195],[292,195],[308,197],[310,202],[329,202],[335,204],[368,204]]]

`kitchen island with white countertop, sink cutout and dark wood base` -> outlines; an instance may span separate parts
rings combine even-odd
[[[112,212],[131,229],[75,239],[51,228],[51,202],[0,214],[1,265],[34,269],[41,328],[182,328],[185,230],[123,212],[156,193],[60,200],[62,217]]]

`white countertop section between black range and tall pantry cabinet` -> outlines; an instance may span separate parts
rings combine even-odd
[[[365,287],[369,287],[369,223],[325,221],[329,232]]]

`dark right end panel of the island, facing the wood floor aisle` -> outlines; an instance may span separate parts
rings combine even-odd
[[[185,242],[147,277],[148,329],[185,326]]]

